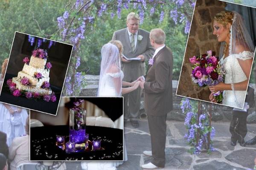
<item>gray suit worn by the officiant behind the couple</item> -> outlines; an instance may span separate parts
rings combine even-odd
[[[143,36],[142,40],[137,40],[137,45],[135,51],[133,52],[131,49],[131,43],[129,40],[128,28],[124,28],[113,33],[112,40],[119,40],[122,42],[124,51],[123,54],[127,58],[134,58],[139,55],[143,55],[145,58],[145,62],[152,57],[154,54],[154,48],[150,44],[149,32],[143,29],[138,30],[138,34]],[[145,75],[145,62],[140,61],[131,61],[131,62],[122,62],[122,71],[124,72],[124,81],[133,82],[138,77]],[[140,96],[141,89],[137,88],[137,90],[132,91],[129,94],[125,94],[124,96],[124,117],[125,119],[136,120],[139,116],[140,110]],[[129,109],[128,109],[128,101],[129,101]]]

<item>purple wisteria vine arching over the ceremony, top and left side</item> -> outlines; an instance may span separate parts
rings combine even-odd
[[[72,3],[73,2],[73,3]],[[192,19],[192,12],[195,0],[76,0],[65,6],[62,16],[57,18],[58,31],[52,36],[55,40],[74,45],[70,67],[63,95],[78,96],[83,82],[83,75],[77,69],[80,65],[79,46],[81,41],[95,28],[96,17],[121,18],[122,10],[134,9],[140,16],[140,24],[143,24],[145,12],[150,15],[159,13],[159,22],[162,22],[167,15],[177,24],[185,23],[184,32],[189,32]],[[159,11],[160,10],[160,11]],[[80,85],[80,86],[79,86]]]

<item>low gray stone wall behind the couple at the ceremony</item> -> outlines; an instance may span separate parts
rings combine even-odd
[[[97,91],[98,91],[99,76],[86,75],[85,79],[87,81],[87,87],[85,87],[81,91],[80,96],[96,96]],[[170,113],[168,113],[167,119],[184,121],[186,115],[184,115],[180,109],[180,101],[181,101],[182,97],[176,96],[177,84],[178,84],[177,80],[172,81],[173,110]],[[255,84],[250,84],[250,87],[256,89]],[[254,92],[256,93],[256,90]],[[232,109],[233,108],[230,108],[227,106],[213,104],[212,105],[212,120],[213,121],[229,122],[232,119]],[[248,123],[256,123],[255,110],[256,110],[255,107],[249,109],[249,116],[247,119]],[[146,113],[144,110],[143,95],[142,95],[141,103],[140,103],[140,118],[141,119],[146,118]]]

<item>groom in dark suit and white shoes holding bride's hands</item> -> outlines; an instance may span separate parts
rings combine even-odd
[[[151,45],[156,49],[149,61],[146,77],[140,77],[144,89],[144,105],[148,115],[152,151],[144,151],[153,159],[142,165],[144,169],[155,169],[165,165],[166,116],[172,110],[172,52],[164,44],[166,35],[160,28],[150,32]]]

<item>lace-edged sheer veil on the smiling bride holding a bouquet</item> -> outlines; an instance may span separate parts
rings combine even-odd
[[[239,106],[239,108],[243,108],[243,103],[238,102],[238,98],[243,97],[243,96],[238,96],[236,95],[236,85],[235,83],[238,82],[236,79],[236,70],[235,70],[235,64],[236,59],[239,62],[239,65],[242,64],[247,59],[251,59],[254,57],[254,50],[255,47],[253,45],[253,41],[251,40],[250,34],[248,33],[246,26],[244,24],[243,18],[239,13],[236,11],[233,11],[233,23],[230,27],[230,43],[229,43],[229,56],[232,57],[232,65],[231,65],[231,70],[232,70],[232,88],[233,88],[233,93],[235,96],[235,102]],[[220,57],[223,56],[224,54],[224,42],[221,43],[221,48],[220,48]],[[237,47],[243,47],[245,50],[242,52],[237,52]],[[245,96],[244,96],[245,98]]]

